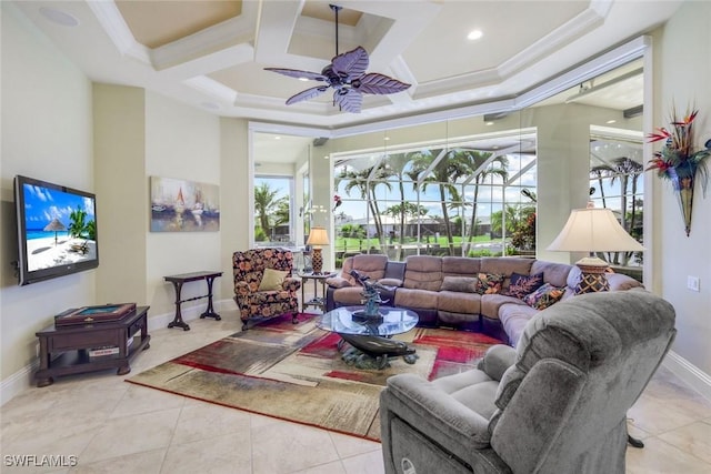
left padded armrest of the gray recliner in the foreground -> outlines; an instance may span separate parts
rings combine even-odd
[[[444,445],[455,442],[461,446],[489,446],[489,420],[418,375],[388,379],[388,387],[381,393],[381,411],[384,407],[417,424],[430,437],[448,441]]]

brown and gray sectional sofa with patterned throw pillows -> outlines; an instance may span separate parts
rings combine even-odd
[[[361,304],[362,288],[350,275],[351,270],[384,288],[384,304],[415,311],[420,325],[479,331],[513,346],[540,309],[574,296],[580,278],[575,265],[525,258],[413,255],[405,262],[392,262],[385,255],[361,254],[346,259],[342,271],[327,280],[328,311]],[[520,283],[540,280],[531,278],[539,274],[548,285],[530,295],[522,294],[527,290],[521,285],[511,285],[512,275]],[[608,274],[608,280],[611,291],[642,286],[620,273]],[[538,293],[542,300],[537,300]]]

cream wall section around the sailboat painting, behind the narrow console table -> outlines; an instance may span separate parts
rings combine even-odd
[[[149,189],[149,177],[220,185],[220,119],[151,92],[147,93],[146,105],[146,168],[141,189]],[[150,219],[148,202],[148,198],[141,201],[144,229]],[[174,310],[174,291],[163,276],[221,270],[220,232],[148,231],[143,235],[146,286],[153,314]],[[186,284],[181,296],[199,296],[206,289],[202,282]],[[216,300],[222,297],[219,285],[213,292]],[[182,307],[203,309],[204,303],[204,300],[196,300]]]

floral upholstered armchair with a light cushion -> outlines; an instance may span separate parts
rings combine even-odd
[[[234,302],[240,309],[242,331],[251,319],[291,313],[297,323],[301,280],[291,275],[293,255],[286,249],[252,249],[234,252]]]

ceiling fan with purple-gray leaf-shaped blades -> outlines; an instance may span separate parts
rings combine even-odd
[[[319,72],[299,71],[297,69],[264,68],[267,71],[278,72],[298,79],[311,79],[326,82],[311,89],[299,92],[287,100],[287,105],[313,99],[329,88],[333,88],[333,105],[339,110],[360,113],[363,104],[363,93],[390,94],[404,91],[410,87],[404,82],[377,72],[365,73],[368,69],[368,51],[358,47],[352,51],[338,53],[338,12],[343,7],[330,4],[336,14],[336,57],[323,70]]]

